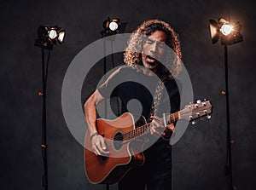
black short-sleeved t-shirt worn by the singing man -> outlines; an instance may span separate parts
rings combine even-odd
[[[105,98],[119,97],[120,110],[117,116],[124,112],[142,114],[149,118],[155,88],[158,78],[156,75],[148,76],[137,67],[120,66],[108,79],[98,87],[100,94]],[[116,104],[113,103],[111,107]],[[177,112],[180,106],[180,94],[175,79],[168,78],[160,100],[157,115],[162,117],[164,112]]]

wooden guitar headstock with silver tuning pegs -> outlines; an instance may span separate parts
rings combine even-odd
[[[196,103],[191,103],[186,105],[183,110],[180,111],[180,118],[192,121],[195,124],[195,119],[207,116],[211,118],[212,104],[210,101],[196,101]]]

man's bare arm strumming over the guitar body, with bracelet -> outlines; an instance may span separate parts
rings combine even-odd
[[[96,155],[108,154],[105,140],[101,135],[97,134],[96,130],[96,105],[102,100],[104,100],[104,97],[96,89],[84,103],[84,117],[88,124],[91,149]]]

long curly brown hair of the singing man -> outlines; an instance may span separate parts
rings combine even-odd
[[[141,53],[143,51],[143,44],[146,37],[150,36],[155,31],[162,31],[166,33],[166,45],[171,48],[166,49],[166,66],[160,64],[163,69],[158,69],[161,73],[157,74],[164,78],[177,77],[178,73],[181,71],[182,53],[180,49],[180,42],[178,40],[177,33],[174,32],[172,27],[163,20],[144,21],[141,26],[137,27],[137,30],[132,32],[124,53],[125,64],[128,66],[143,65]]]

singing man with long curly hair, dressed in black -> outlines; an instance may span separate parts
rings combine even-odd
[[[145,187],[148,190],[172,189],[172,147],[166,139],[170,138],[174,124],[164,126],[160,116],[163,112],[179,110],[180,95],[175,78],[181,69],[180,59],[180,43],[172,27],[162,20],[145,21],[128,41],[124,58],[126,66],[113,72],[84,103],[91,150],[98,156],[109,153],[106,141],[96,129],[96,105],[106,98],[119,97],[121,108],[117,115],[129,112],[132,100],[139,101],[142,109],[136,109],[135,106],[133,111],[139,110],[151,122],[149,133],[157,136],[149,137],[151,143],[143,151],[144,164],[131,169],[119,181],[119,190],[143,190]],[[148,86],[145,88],[138,81],[148,83]],[[166,91],[157,90],[160,89],[159,81]]]

